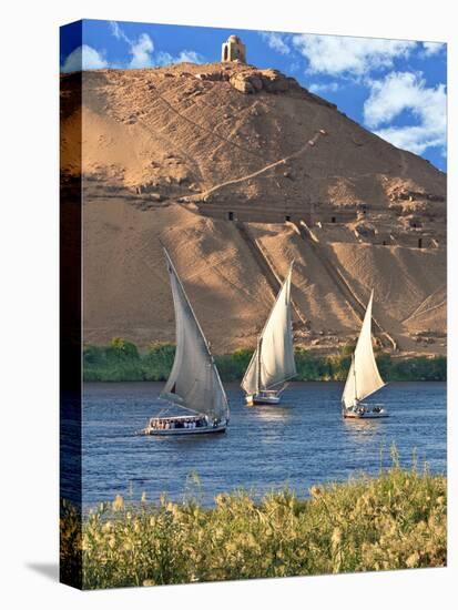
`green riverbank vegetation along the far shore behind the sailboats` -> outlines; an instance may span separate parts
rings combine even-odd
[[[335,355],[320,356],[296,349],[298,382],[344,382],[350,364],[352,346]],[[83,352],[85,382],[164,382],[170,373],[175,346],[154,344],[141,354],[138,347],[123,338],[114,338],[108,346],[88,345]],[[237,349],[233,354],[215,356],[223,382],[240,382],[253,352]],[[377,353],[377,364],[386,382],[444,382],[447,359],[444,356],[394,358]]]

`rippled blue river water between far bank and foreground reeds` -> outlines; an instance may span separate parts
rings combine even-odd
[[[207,506],[215,495],[244,487],[255,494],[285,485],[306,496],[312,485],[344,481],[390,464],[394,443],[401,465],[416,451],[434,472],[446,471],[446,384],[390,384],[377,394],[390,417],[344,420],[343,386],[296,383],[278,406],[245,407],[237,385],[226,387],[226,434],[194,437],[135,436],[164,403],[163,384],[85,384],[83,406],[83,501],[116,494],[150,500],[166,494],[182,500],[190,489]],[[199,475],[200,487],[190,475]],[[191,487],[190,487],[191,486]],[[187,489],[187,491],[186,491]]]

